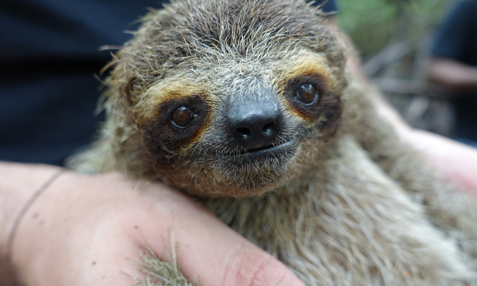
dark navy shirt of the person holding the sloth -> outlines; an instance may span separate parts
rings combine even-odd
[[[93,73],[111,59],[98,47],[122,45],[164,1],[1,0],[0,160],[62,165],[91,142],[103,118]]]

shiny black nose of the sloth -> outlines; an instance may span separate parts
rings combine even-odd
[[[236,143],[256,149],[277,142],[283,116],[274,97],[245,97],[234,103],[228,110],[228,130]]]

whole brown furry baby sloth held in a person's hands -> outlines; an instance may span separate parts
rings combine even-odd
[[[304,0],[150,12],[114,57],[104,138],[73,165],[199,198],[309,286],[477,285],[474,204],[378,117],[319,14]]]

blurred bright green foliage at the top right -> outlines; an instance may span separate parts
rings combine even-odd
[[[442,20],[448,0],[337,0],[338,21],[363,56]]]

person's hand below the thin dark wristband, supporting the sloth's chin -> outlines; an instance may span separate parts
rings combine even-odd
[[[10,165],[21,176],[45,168]],[[21,179],[18,168],[9,168],[16,175],[0,172],[2,180]],[[45,177],[56,172],[47,169]],[[145,277],[133,262],[144,246],[167,261],[175,241],[180,270],[189,280],[197,276],[200,285],[303,285],[193,199],[117,173],[64,171],[23,216],[11,260],[27,285],[131,285],[135,281],[124,273]]]

